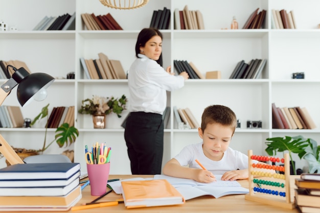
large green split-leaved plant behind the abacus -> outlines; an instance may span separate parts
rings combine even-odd
[[[309,165],[309,173],[320,172],[319,151],[320,146],[313,139],[305,139],[303,136],[295,137],[275,137],[267,138],[265,151],[274,156],[277,152],[288,151],[290,156],[291,167],[296,175],[295,165],[292,159],[292,153],[298,154],[300,159],[304,158]]]

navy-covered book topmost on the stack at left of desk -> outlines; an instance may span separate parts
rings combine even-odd
[[[14,164],[0,169],[0,180],[65,179],[79,170],[79,163]]]

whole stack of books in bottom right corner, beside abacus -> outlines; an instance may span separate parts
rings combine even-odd
[[[303,173],[296,178],[294,189],[296,207],[303,213],[320,212],[320,174]]]

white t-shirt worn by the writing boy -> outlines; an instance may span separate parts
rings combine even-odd
[[[222,175],[227,171],[237,169],[248,169],[248,156],[242,152],[228,147],[220,161],[212,161],[212,159],[209,159],[204,155],[202,144],[203,142],[188,145],[183,148],[174,158],[180,163],[181,166],[189,165],[190,168],[202,169],[195,162],[195,159],[198,159],[204,168],[217,175]],[[253,161],[253,163],[258,163],[258,161]]]

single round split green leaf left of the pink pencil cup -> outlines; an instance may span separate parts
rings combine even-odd
[[[74,143],[79,136],[79,131],[74,126],[69,126],[68,123],[63,123],[56,130],[55,139],[59,147],[68,146]]]

